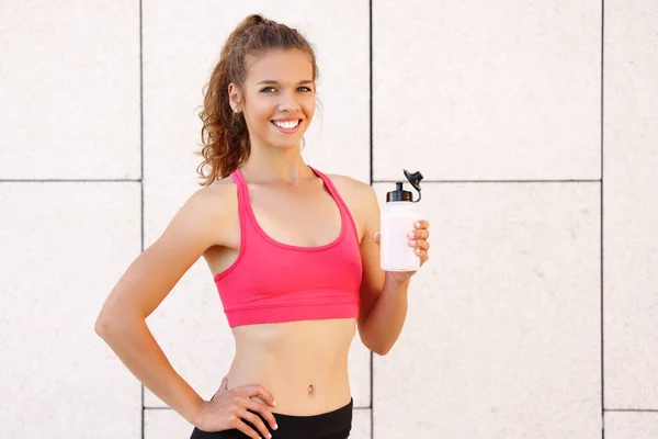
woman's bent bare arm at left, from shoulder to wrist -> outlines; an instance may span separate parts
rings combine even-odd
[[[195,192],[162,235],[121,277],[98,316],[94,330],[128,370],[167,405],[195,425],[204,401],[174,371],[146,325],[182,275],[211,246],[222,245],[226,188]]]

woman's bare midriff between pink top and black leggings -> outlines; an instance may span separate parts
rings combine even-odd
[[[260,384],[274,394],[274,413],[313,416],[351,401],[348,354],[352,318],[234,328],[236,356],[228,389]]]

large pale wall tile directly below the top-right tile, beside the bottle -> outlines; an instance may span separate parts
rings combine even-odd
[[[431,259],[374,358],[375,437],[600,436],[599,191],[424,184]]]

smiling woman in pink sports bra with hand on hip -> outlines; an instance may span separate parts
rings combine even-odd
[[[372,188],[328,177],[300,155],[316,79],[297,31],[261,15],[238,25],[200,114],[203,188],[128,267],[98,317],[97,333],[195,426],[192,438],[345,438],[355,327],[378,354],[400,334],[413,273],[379,268]],[[429,224],[410,232],[409,251],[424,263]],[[145,323],[201,256],[236,341],[211,401],[172,369]]]

